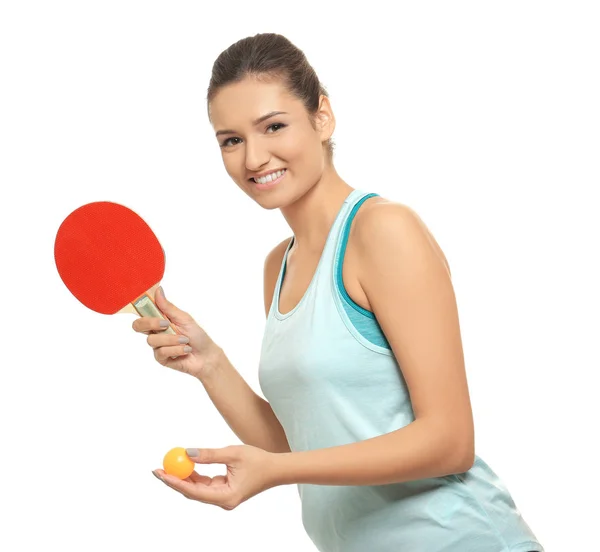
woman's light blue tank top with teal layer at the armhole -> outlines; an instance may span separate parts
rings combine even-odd
[[[279,310],[285,252],[262,343],[259,382],[292,451],[345,445],[414,421],[407,385],[373,313],[341,278],[353,190],[315,274]],[[509,491],[479,457],[462,474],[377,486],[298,485],[302,522],[321,552],[543,552]]]

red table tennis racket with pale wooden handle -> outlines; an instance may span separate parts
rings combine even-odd
[[[58,229],[54,260],[69,291],[89,309],[165,319],[154,303],[165,253],[131,209],[109,201],[75,209]],[[165,331],[176,333],[170,326]]]

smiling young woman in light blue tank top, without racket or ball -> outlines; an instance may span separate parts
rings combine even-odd
[[[225,509],[297,484],[323,552],[543,551],[474,452],[444,254],[412,209],[338,175],[335,118],[303,52],[277,34],[240,40],[216,60],[207,99],[227,173],[293,236],[264,265],[266,401],[162,290],[168,321],[134,322],[244,443],[188,449],[198,464],[226,464],[225,476],[154,474]],[[169,321],[180,335],[164,333]]]

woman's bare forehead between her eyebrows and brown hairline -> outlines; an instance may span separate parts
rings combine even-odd
[[[261,82],[248,77],[228,84],[210,102],[210,116],[216,130],[250,125],[270,111],[293,113],[303,104],[291,95],[281,81]]]

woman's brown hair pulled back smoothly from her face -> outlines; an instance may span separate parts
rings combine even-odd
[[[221,52],[212,68],[206,96],[207,108],[222,87],[248,76],[260,80],[280,78],[287,90],[303,102],[311,115],[311,124],[316,128],[312,115],[317,112],[320,95],[329,97],[329,94],[304,52],[287,38],[275,33],[256,34],[238,40]],[[334,145],[329,138],[327,151],[330,159]]]

